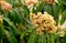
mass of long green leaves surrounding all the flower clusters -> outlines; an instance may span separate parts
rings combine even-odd
[[[66,35],[63,37],[63,40],[55,34],[44,33],[42,35],[37,35],[30,21],[30,10],[26,6],[23,6],[22,0],[6,1],[12,4],[12,10],[0,10],[0,14],[3,15],[3,23],[0,23],[0,43],[57,43],[58,41],[61,41],[61,43],[66,43]],[[43,13],[46,11],[54,17],[57,24],[63,24],[66,20],[66,0],[57,1],[58,3],[56,4],[47,4],[40,0],[36,10],[33,8],[32,12]],[[61,21],[59,14],[62,15]]]

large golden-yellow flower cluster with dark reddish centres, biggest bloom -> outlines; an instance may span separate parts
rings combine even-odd
[[[35,13],[31,13],[30,19],[35,25],[37,34],[43,34],[43,32],[55,33],[57,30],[54,18],[47,12],[45,12],[44,14],[38,12],[37,15]]]

